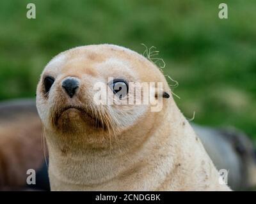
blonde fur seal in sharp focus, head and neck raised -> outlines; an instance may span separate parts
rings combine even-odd
[[[108,84],[108,77],[163,82],[163,92],[171,92],[152,62],[124,47],[90,45],[54,57],[36,96],[51,190],[230,190],[219,184],[218,171],[172,96],[163,99],[160,112],[150,105],[95,105],[93,84]],[[76,80],[76,92],[63,85],[67,79]]]

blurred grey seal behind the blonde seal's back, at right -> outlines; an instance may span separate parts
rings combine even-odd
[[[248,136],[236,128],[209,128],[192,124],[218,170],[228,171],[228,185],[234,190],[256,184],[256,154]]]

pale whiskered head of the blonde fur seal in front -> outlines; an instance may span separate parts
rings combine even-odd
[[[143,82],[155,89],[141,91]],[[156,87],[157,82],[163,86]],[[118,94],[115,86],[122,87],[123,93]],[[142,55],[115,45],[89,45],[62,52],[47,64],[37,87],[36,105],[53,142],[103,148],[111,144],[111,138],[142,140],[159,112],[152,112],[150,103],[131,102],[146,96],[168,98],[168,92],[161,71]],[[97,103],[100,98],[108,100]],[[168,99],[162,101],[164,108]],[[132,133],[135,126],[140,126],[138,135]]]

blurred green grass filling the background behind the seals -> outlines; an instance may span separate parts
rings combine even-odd
[[[36,4],[36,19],[26,4]],[[256,138],[256,2],[1,1],[0,100],[33,97],[45,64],[79,45],[113,43],[143,53],[154,45],[164,72],[179,82],[175,99],[186,117],[236,126]]]

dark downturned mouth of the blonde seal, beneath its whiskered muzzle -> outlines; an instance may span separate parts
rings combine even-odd
[[[92,110],[82,106],[65,106],[52,114],[52,124],[57,128],[63,128],[63,124],[68,128],[68,124],[81,121],[88,126],[105,129],[104,122]]]

